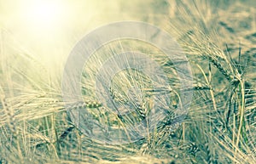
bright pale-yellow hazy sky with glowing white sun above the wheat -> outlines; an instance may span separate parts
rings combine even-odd
[[[15,42],[52,66],[65,61],[75,43],[96,27],[121,20],[157,24],[168,7],[165,0],[1,0],[0,27],[5,43]]]

